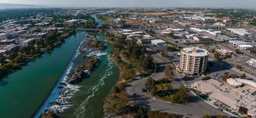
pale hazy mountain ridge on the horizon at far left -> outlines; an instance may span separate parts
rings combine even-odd
[[[25,5],[25,4],[1,4],[0,9],[21,9],[21,8],[47,8],[43,5]]]

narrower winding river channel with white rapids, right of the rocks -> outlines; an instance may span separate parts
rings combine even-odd
[[[97,17],[98,24],[104,22]],[[103,41],[107,48],[101,53],[100,65],[91,76],[79,84],[79,93],[71,98],[71,106],[65,109],[61,117],[103,117],[104,99],[110,93],[111,88],[116,84],[119,77],[117,66],[110,60],[109,54],[113,51],[110,42],[104,40],[104,35],[97,34],[100,41]]]

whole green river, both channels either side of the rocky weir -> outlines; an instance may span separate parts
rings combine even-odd
[[[104,24],[104,21],[97,19],[95,15],[92,17],[99,25]],[[77,31],[75,35],[66,38],[66,42],[55,48],[52,53],[44,53],[41,57],[30,61],[22,70],[0,80],[1,117],[31,117],[55,83],[67,73],[67,65],[72,63],[85,34],[85,31]],[[104,41],[104,35],[97,34],[97,36],[107,45],[106,50],[98,57],[100,65],[89,78],[78,85],[79,92],[70,99],[70,107],[64,110],[62,117],[103,117],[104,115],[104,98],[116,83],[119,70],[109,58],[113,47],[109,42]],[[51,99],[55,99],[55,96],[51,96]]]

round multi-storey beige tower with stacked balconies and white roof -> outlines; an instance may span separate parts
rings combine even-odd
[[[180,70],[185,74],[201,74],[207,69],[209,53],[199,47],[183,48],[180,57]]]

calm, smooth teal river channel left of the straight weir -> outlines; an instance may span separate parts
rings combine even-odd
[[[44,53],[0,81],[1,117],[30,117],[59,80],[86,32],[76,32],[52,53]]]

